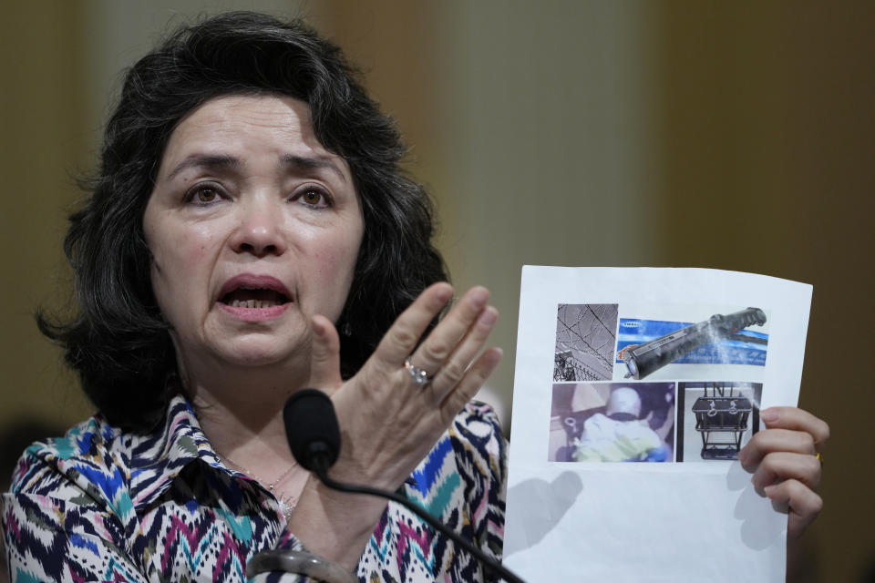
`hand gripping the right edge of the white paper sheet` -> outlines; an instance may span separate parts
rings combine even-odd
[[[760,418],[767,429],[751,438],[738,460],[754,474],[758,490],[789,506],[787,536],[795,538],[823,507],[818,454],[829,439],[829,425],[797,407],[769,407]]]

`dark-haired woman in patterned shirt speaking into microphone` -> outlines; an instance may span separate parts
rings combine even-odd
[[[41,324],[99,414],[20,461],[14,578],[241,580],[255,553],[302,547],[365,581],[485,578],[406,510],[326,490],[285,441],[287,397],[323,389],[336,480],[401,487],[499,557],[505,448],[468,403],[499,363],[498,314],[474,288],[437,323],[453,291],[403,153],[297,23],[221,15],[130,69],[67,236],[81,312]],[[746,462],[791,456],[771,481],[816,486],[819,466],[794,469],[810,425]]]

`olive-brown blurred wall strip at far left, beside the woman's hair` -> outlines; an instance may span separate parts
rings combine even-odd
[[[40,303],[63,305],[68,271],[60,253],[73,177],[88,163],[82,111],[81,14],[59,2],[4,7],[0,139],[0,424],[45,415],[67,424],[88,411],[59,353],[36,331]]]

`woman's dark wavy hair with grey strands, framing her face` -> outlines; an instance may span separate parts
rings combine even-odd
[[[169,324],[150,281],[142,217],[170,134],[187,113],[224,95],[278,94],[306,102],[316,138],[349,164],[365,231],[338,322],[341,368],[354,374],[396,316],[427,285],[447,279],[431,243],[431,203],[402,175],[405,148],[392,120],[357,81],[340,49],[301,22],[233,12],[181,26],[125,77],[109,118],[98,176],[70,217],[64,243],[77,314],[37,314],[40,330],[108,421],[146,431],[176,384]],[[433,322],[434,323],[434,322]]]

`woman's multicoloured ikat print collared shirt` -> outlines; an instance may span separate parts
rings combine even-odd
[[[468,404],[402,491],[500,558],[505,452],[494,412]],[[18,583],[242,581],[256,553],[302,548],[276,498],[222,465],[181,396],[152,434],[124,433],[97,415],[28,447],[2,519]],[[487,579],[475,559],[394,502],[357,575],[366,583]]]

